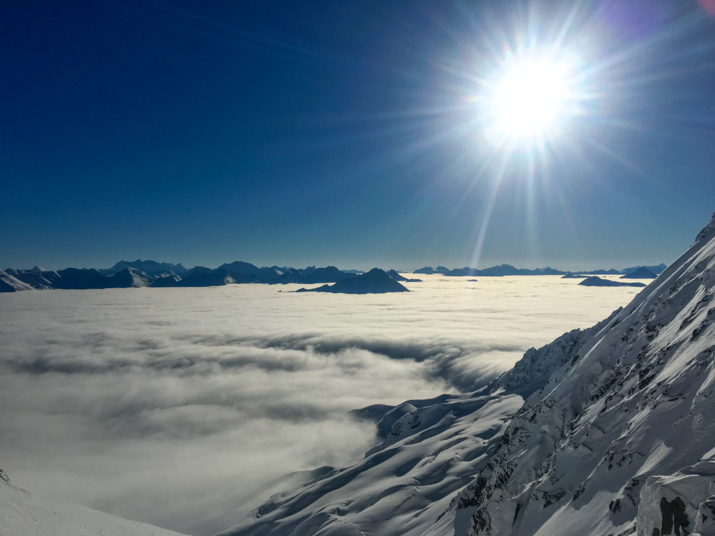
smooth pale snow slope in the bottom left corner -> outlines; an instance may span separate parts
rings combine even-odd
[[[39,497],[10,484],[0,470],[0,534],[2,536],[182,536],[146,523],[129,521],[74,505]]]

